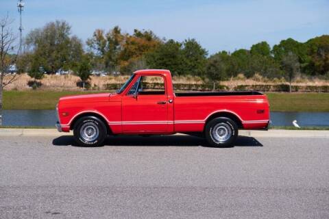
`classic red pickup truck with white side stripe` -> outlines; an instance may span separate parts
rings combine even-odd
[[[173,92],[169,70],[137,70],[115,93],[64,96],[58,131],[81,146],[108,135],[202,134],[210,146],[232,146],[238,129],[267,129],[269,103],[260,92]]]

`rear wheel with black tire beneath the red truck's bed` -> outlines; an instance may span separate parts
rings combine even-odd
[[[205,136],[210,146],[231,147],[238,136],[238,125],[230,118],[214,118],[206,124]]]

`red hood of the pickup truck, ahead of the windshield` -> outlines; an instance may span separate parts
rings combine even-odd
[[[118,94],[116,93],[101,93],[101,94],[82,94],[63,96],[60,98],[62,103],[95,103],[105,101],[119,101]]]

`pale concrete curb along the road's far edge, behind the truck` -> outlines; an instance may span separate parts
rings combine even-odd
[[[58,132],[57,129],[0,129],[0,136],[72,136],[73,133]],[[178,133],[177,135],[182,135]],[[258,138],[329,138],[329,130],[283,130],[269,131],[239,130],[239,136]]]

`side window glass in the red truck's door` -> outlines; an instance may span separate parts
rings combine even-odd
[[[138,95],[164,95],[164,78],[161,76],[142,76],[138,86]]]

